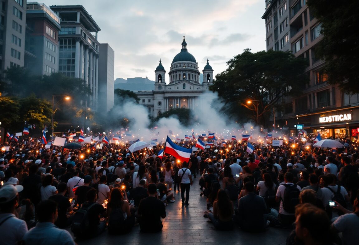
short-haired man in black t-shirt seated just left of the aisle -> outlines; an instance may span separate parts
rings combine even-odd
[[[161,218],[166,217],[164,203],[157,198],[157,186],[152,183],[148,186],[148,196],[140,201],[137,211],[142,232],[158,232],[162,230]]]

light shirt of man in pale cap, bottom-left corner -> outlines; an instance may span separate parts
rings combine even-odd
[[[26,222],[12,213],[0,213],[0,223],[7,217],[11,218],[1,225],[1,241],[5,244],[18,244],[27,232]]]

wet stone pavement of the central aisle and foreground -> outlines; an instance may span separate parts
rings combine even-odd
[[[78,244],[285,244],[290,230],[269,227],[266,232],[248,233],[237,226],[232,231],[217,231],[208,218],[203,217],[206,198],[200,196],[199,178],[194,179],[190,190],[190,205],[182,207],[181,192],[175,192],[176,202],[166,207],[167,217],[163,219],[163,230],[157,234],[144,234],[137,225],[129,234],[100,236]]]

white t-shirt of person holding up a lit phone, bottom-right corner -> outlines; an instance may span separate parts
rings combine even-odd
[[[342,245],[359,244],[359,217],[355,213],[339,216],[333,226],[342,232]]]

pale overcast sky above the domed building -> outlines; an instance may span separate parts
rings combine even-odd
[[[41,2],[41,1],[39,1]],[[42,2],[41,2],[42,3]],[[202,72],[207,58],[214,74],[250,48],[265,50],[264,0],[43,0],[50,5],[83,5],[101,28],[100,43],[115,51],[115,79],[154,80],[159,59],[166,82],[185,34],[187,49]]]

